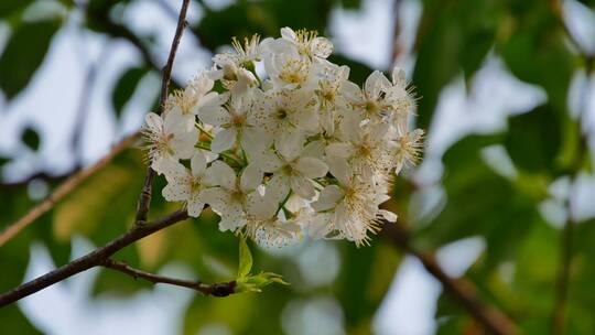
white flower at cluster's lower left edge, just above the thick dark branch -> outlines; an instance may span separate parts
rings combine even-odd
[[[167,185],[163,187],[163,197],[169,202],[184,202],[188,215],[198,217],[205,207],[203,191],[205,184],[206,159],[196,151],[191,160],[191,170],[178,162],[167,162],[164,174]]]

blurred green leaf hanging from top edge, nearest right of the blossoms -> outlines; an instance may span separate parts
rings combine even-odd
[[[430,127],[445,85],[461,73],[469,79],[480,66],[494,44],[501,12],[500,1],[424,1],[412,76],[422,97],[418,106],[419,127]]]

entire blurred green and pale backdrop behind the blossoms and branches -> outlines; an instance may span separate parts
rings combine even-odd
[[[180,6],[0,1],[0,230],[155,110]],[[565,333],[595,334],[594,9],[589,0],[192,0],[174,80],[208,67],[231,36],[282,26],[328,36],[356,83],[403,67],[429,136],[387,206],[414,248],[470,280],[526,334],[550,333],[567,269]],[[0,291],[128,229],[144,166],[138,145],[125,151],[0,247]],[[152,217],[172,209],[153,197]],[[359,249],[251,247],[257,270],[291,285],[213,299],[94,269],[0,310],[1,333],[482,334],[382,234]],[[212,282],[234,278],[237,249],[206,214],[116,259]]]

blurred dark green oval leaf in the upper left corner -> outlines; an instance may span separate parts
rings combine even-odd
[[[42,64],[50,42],[60,28],[55,20],[19,25],[0,57],[0,88],[7,99],[26,87]]]

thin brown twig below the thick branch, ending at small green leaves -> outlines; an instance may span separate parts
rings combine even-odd
[[[176,287],[183,287],[183,288],[198,291],[203,293],[204,295],[227,296],[227,295],[236,293],[235,280],[229,281],[229,282],[205,284],[205,283],[202,283],[201,281],[192,281],[192,280],[163,277],[163,275],[145,272],[142,270],[137,270],[134,268],[131,268],[125,262],[116,261],[112,259],[106,259],[101,263],[101,266],[108,269],[120,271],[134,279],[141,278],[154,284],[164,283],[164,284],[171,284],[171,285],[176,285]]]

